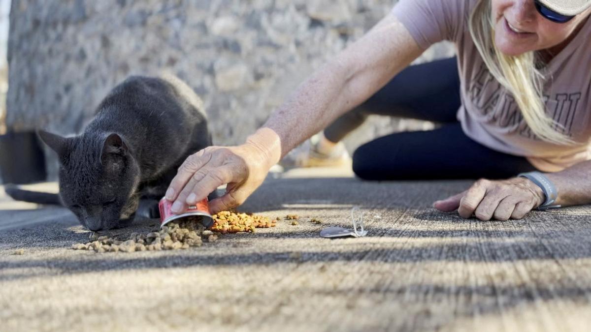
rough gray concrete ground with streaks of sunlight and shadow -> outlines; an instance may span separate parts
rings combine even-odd
[[[297,213],[298,226],[282,221],[170,252],[71,250],[88,233],[69,211],[0,198],[0,329],[587,330],[589,206],[509,222],[431,208],[470,184],[294,170],[269,178],[242,210]],[[349,226],[353,206],[368,236],[319,237]]]

